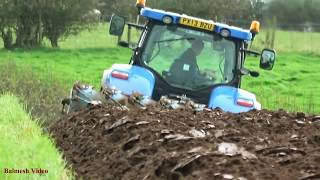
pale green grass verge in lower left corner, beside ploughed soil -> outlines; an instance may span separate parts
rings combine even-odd
[[[36,120],[12,95],[0,97],[0,179],[72,179],[62,156]],[[4,169],[28,169],[29,174],[5,174]],[[31,168],[48,170],[33,174]]]

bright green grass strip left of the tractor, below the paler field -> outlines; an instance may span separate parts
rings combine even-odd
[[[33,72],[51,74],[66,84],[76,80],[97,84],[106,67],[128,63],[129,52],[119,48],[79,48],[36,50],[1,50],[1,59],[14,60],[18,67],[28,66]],[[125,55],[124,55],[125,54]],[[71,87],[71,86],[70,86]]]

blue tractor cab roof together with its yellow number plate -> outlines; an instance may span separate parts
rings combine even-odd
[[[159,10],[159,9],[152,9],[152,8],[148,8],[148,7],[142,8],[140,11],[140,15],[142,15],[146,18],[161,21],[161,22],[163,21],[164,17],[169,16],[172,18],[173,24],[183,24],[183,25],[190,26],[190,27],[195,27],[195,28],[199,28],[199,29],[205,29],[208,31],[216,32],[218,34],[220,34],[222,30],[227,29],[230,32],[230,35],[229,35],[230,37],[237,38],[237,39],[244,40],[244,41],[251,41],[252,40],[252,34],[249,30],[234,27],[234,26],[229,26],[229,25],[223,24],[223,23],[213,22],[212,20],[200,19],[200,18],[188,16],[185,14],[178,14],[178,13],[163,11],[163,10]],[[184,19],[186,21],[189,21],[189,20],[190,21],[188,24],[185,24],[182,22],[182,19]],[[199,23],[208,24],[209,26],[213,25],[213,28],[200,27],[200,26],[198,26]],[[197,26],[195,26],[195,25],[197,25]]]

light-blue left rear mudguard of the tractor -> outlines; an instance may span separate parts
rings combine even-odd
[[[112,72],[125,74],[127,79],[114,77]],[[104,71],[101,85],[102,87],[118,89],[125,95],[138,92],[144,97],[151,98],[155,77],[152,72],[142,67],[129,64],[114,64],[110,69]]]

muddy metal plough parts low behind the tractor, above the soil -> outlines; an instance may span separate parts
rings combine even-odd
[[[122,110],[131,108],[145,109],[147,105],[156,104],[156,102],[138,92],[125,95],[116,88],[111,87],[102,87],[99,92],[93,86],[81,84],[77,81],[70,91],[69,98],[63,99],[61,104],[61,112],[68,114],[101,104],[113,104]],[[206,108],[206,105],[197,104],[185,95],[162,96],[159,104],[169,109],[188,108],[194,111],[202,111]]]

